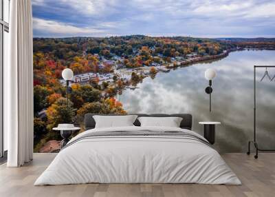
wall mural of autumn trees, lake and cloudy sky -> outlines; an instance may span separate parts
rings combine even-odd
[[[200,121],[221,122],[214,143],[219,152],[247,152],[253,65],[275,65],[272,6],[32,0],[34,152],[59,152],[63,137],[54,127],[74,123],[85,132],[88,113],[188,113],[199,134]],[[217,72],[211,113],[208,68]],[[65,69],[73,73],[68,88]],[[269,71],[273,77],[275,68]],[[257,72],[258,81],[264,72]],[[275,149],[275,79],[257,85],[258,142]]]

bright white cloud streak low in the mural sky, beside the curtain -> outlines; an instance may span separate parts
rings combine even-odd
[[[50,21],[45,19],[33,19],[34,30],[43,31],[46,33],[53,34],[97,34],[104,32],[103,30],[98,30],[96,28],[79,28],[74,25],[69,25],[67,23],[61,23],[58,21]]]

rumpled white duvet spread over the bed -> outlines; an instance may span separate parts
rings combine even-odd
[[[175,127],[113,127],[88,130],[70,142],[88,132],[140,129],[195,134]],[[217,151],[199,141],[175,136],[85,138],[63,149],[34,185],[78,183],[241,185]]]

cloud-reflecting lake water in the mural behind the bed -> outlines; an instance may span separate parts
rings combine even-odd
[[[203,134],[199,121],[219,121],[214,147],[220,152],[246,152],[253,138],[253,65],[275,65],[275,51],[250,50],[231,52],[212,63],[197,63],[146,77],[140,87],[125,90],[117,96],[129,113],[190,113],[192,129]],[[207,68],[214,68],[212,112],[209,95],[204,92]],[[259,69],[257,80],[257,141],[259,147],[275,149],[275,79],[264,79],[265,68]],[[275,75],[275,68],[268,70]]]

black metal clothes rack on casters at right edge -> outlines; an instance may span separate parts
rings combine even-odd
[[[247,154],[250,154],[250,145],[251,143],[254,144],[254,147],[256,149],[256,154],[254,155],[254,158],[258,158],[259,151],[261,152],[272,152],[275,151],[275,149],[261,149],[258,146],[258,143],[256,142],[256,68],[275,68],[275,65],[254,65],[254,125],[253,125],[253,141],[248,141],[248,152]]]

